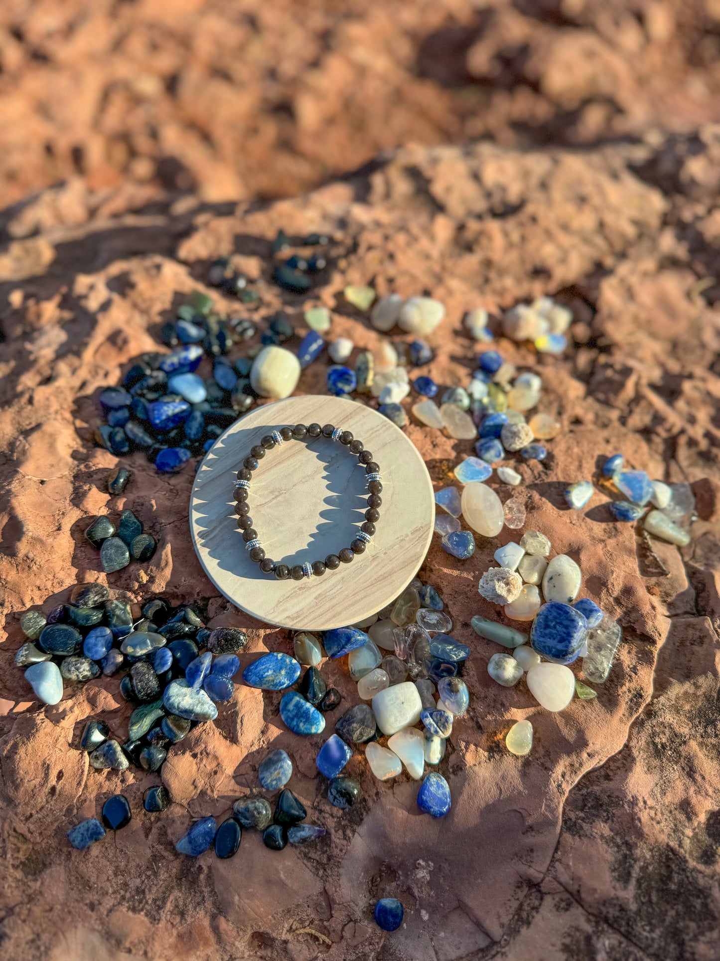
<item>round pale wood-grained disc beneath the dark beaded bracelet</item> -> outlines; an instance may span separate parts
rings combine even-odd
[[[320,578],[277,580],[250,559],[232,490],[263,434],[313,422],[352,431],[372,451],[382,473],[381,516],[367,550],[349,564]],[[325,437],[269,451],[251,484],[253,527],[277,561],[312,563],[337,554],[365,520],[365,468]],[[304,630],[355,624],[390,604],[417,574],[434,520],[432,483],[411,441],[376,410],[338,397],[290,397],[246,414],[213,444],[190,497],[195,550],[218,590],[258,621]]]

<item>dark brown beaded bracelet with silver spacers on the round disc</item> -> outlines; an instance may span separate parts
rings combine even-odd
[[[252,517],[250,516],[250,506],[248,496],[250,491],[250,481],[252,471],[257,470],[260,461],[265,456],[266,451],[272,451],[286,440],[314,440],[316,437],[328,437],[340,444],[348,447],[351,454],[357,456],[358,460],[365,467],[368,480],[368,509],[365,511],[365,523],[358,530],[357,537],[349,547],[344,547],[337,554],[327,554],[324,560],[316,560],[312,564],[287,564],[277,563],[265,556],[262,549],[257,531],[252,527]],[[335,571],[342,564],[349,564],[355,554],[362,554],[366,545],[375,532],[375,524],[380,519],[380,512],[377,509],[382,504],[380,493],[382,483],[380,482],[380,468],[372,459],[370,451],[366,451],[361,440],[355,440],[350,431],[343,431],[332,424],[296,424],[295,427],[276,428],[272,433],[265,434],[260,439],[260,443],[251,448],[250,454],[243,461],[242,468],[237,472],[237,484],[233,491],[235,513],[238,515],[237,526],[243,531],[245,546],[250,552],[251,560],[260,565],[263,574],[275,574],[278,580],[301,580],[311,578],[313,575],[320,577],[326,570]]]

